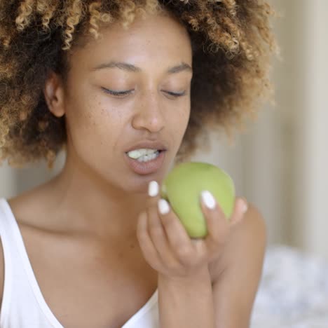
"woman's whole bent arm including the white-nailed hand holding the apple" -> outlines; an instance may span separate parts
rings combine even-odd
[[[254,209],[245,214],[247,204],[238,198],[227,221],[214,197],[206,193],[201,206],[208,233],[204,239],[191,240],[156,191],[139,214],[137,238],[144,258],[158,271],[160,327],[247,327],[265,248],[261,216]],[[210,272],[213,264],[221,273],[217,280]],[[234,308],[226,313],[229,306]]]

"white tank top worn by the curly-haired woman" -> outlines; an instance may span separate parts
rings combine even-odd
[[[0,198],[0,238],[5,264],[0,328],[64,328],[43,298],[20,228],[4,198]],[[156,289],[146,304],[122,328],[158,328],[158,318]]]

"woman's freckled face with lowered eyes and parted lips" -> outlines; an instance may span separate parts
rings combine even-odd
[[[167,15],[116,23],[75,48],[64,90],[67,160],[115,189],[145,191],[161,181],[182,142],[190,114],[189,35]],[[160,150],[155,160],[137,149]],[[149,154],[151,151],[149,151]]]

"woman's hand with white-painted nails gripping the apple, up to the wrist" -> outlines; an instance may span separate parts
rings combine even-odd
[[[228,221],[209,192],[202,193],[201,207],[207,223],[204,239],[190,238],[166,200],[158,196],[157,182],[149,184],[149,204],[139,214],[137,238],[148,264],[166,278],[189,278],[203,272],[224,251],[231,226],[242,220],[247,210],[243,198],[235,199]]]

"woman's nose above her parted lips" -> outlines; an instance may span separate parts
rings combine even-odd
[[[149,132],[159,132],[164,128],[165,121],[163,108],[160,106],[159,96],[152,94],[139,102],[137,110],[132,119],[132,127],[137,130],[148,130]]]

